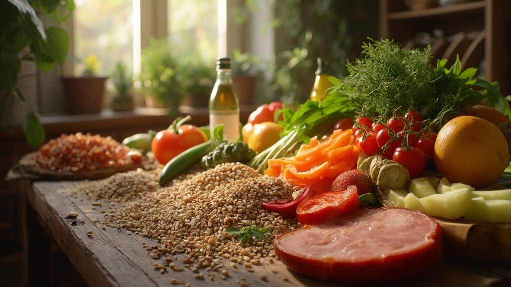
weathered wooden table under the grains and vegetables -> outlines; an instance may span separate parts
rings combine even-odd
[[[125,229],[103,228],[101,222],[109,203],[104,202],[100,207],[92,205],[92,202],[81,196],[71,196],[69,189],[74,184],[76,182],[72,181],[21,180],[21,189],[26,199],[25,275],[28,285],[44,285],[45,282],[49,282],[48,268],[44,261],[40,261],[49,254],[49,243],[40,236],[42,232],[49,232],[55,238],[69,260],[91,286],[184,286],[187,283],[190,286],[340,285],[295,274],[287,270],[278,260],[251,268],[242,265],[232,268],[229,266],[230,261],[226,260],[224,267],[216,272],[208,274],[201,270],[204,275],[202,279],[196,278],[197,273],[187,268],[182,271],[168,269],[165,273],[160,273],[153,264],[162,265],[165,258],[153,259],[146,250],[147,246],[158,243]],[[78,216],[70,218],[70,213],[76,213]],[[180,260],[184,258],[183,256],[178,255],[176,258],[168,256],[177,266],[183,266]],[[222,270],[228,272],[224,279],[221,278]],[[171,281],[173,279],[174,281]],[[511,286],[511,265],[499,262],[477,264],[446,254],[441,264],[431,272],[411,280],[381,285]]]

